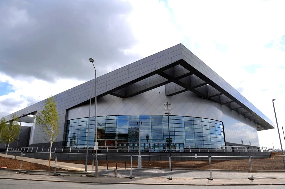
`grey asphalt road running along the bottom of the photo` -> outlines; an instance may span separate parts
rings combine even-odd
[[[144,184],[89,184],[89,183],[70,183],[70,182],[44,182],[44,181],[31,181],[31,180],[7,180],[0,179],[0,189],[81,189],[81,188],[92,188],[92,189],[145,189],[145,188],[156,188],[156,189],[279,189],[285,188],[285,185],[258,185],[258,186],[172,186],[172,185],[144,185]]]

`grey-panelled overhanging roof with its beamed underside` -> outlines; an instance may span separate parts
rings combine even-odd
[[[107,94],[131,97],[162,85],[165,85],[166,95],[189,90],[205,99],[226,105],[255,122],[257,130],[274,128],[270,119],[181,43],[97,77],[97,97]],[[65,106],[61,105],[59,109],[65,111],[86,103],[90,96],[94,98],[94,86],[93,79],[55,95],[57,101],[67,99]],[[38,111],[44,101],[17,111],[16,114]]]

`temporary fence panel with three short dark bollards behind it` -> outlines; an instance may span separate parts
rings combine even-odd
[[[131,155],[98,154],[97,160],[98,160],[98,176],[114,176],[114,177],[130,176]],[[95,158],[94,161],[96,161]]]

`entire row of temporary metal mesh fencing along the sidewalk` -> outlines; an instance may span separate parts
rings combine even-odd
[[[5,158],[6,151],[0,151]],[[16,152],[9,152],[7,158],[14,159]],[[88,154],[85,172],[86,153],[51,153],[52,168],[48,169],[49,152],[17,152],[21,159],[19,171],[34,169],[30,162],[44,164],[56,173],[68,169],[80,174],[94,175],[94,155]],[[98,175],[117,177],[163,177],[163,178],[280,178],[285,177],[284,156],[150,156],[142,155],[142,168],[138,167],[138,155],[98,154]],[[70,164],[72,163],[72,164]],[[4,165],[3,165],[4,166]],[[39,166],[42,168],[42,166]],[[8,168],[9,169],[9,168]],[[35,170],[35,169],[34,169]],[[74,170],[74,171],[72,171]],[[66,171],[66,170],[65,170]],[[70,172],[69,172],[70,173]]]

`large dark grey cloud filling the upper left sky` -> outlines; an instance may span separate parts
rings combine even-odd
[[[126,1],[1,1],[0,72],[33,76],[91,79],[106,65],[127,65],[141,57],[123,50],[137,41],[126,17]]]

